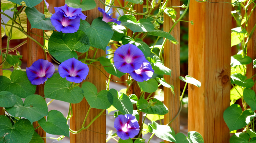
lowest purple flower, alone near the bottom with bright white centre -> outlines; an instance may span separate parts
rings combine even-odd
[[[117,135],[126,140],[133,138],[139,134],[139,123],[135,116],[131,114],[118,115],[114,122],[114,127],[117,130]]]

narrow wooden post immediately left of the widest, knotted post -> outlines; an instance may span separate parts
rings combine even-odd
[[[169,0],[166,7],[180,6],[180,0]],[[180,17],[180,8],[175,8],[176,20]],[[169,32],[172,25],[174,24],[172,18],[164,14],[163,17],[163,31]],[[180,23],[176,24],[171,32],[172,36],[180,41]],[[175,45],[169,40],[166,41],[163,49],[164,65],[172,70],[172,77],[164,75],[164,79],[167,83],[174,86],[175,95],[172,94],[170,88],[163,88],[164,91],[164,104],[169,109],[169,113],[164,115],[164,124],[168,124],[179,111],[180,108],[180,44]],[[180,132],[180,116],[178,116],[170,126],[174,129],[175,133]],[[165,141],[167,142],[167,141]]]

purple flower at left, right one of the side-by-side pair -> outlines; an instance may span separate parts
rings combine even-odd
[[[70,58],[59,65],[59,75],[62,78],[66,77],[67,81],[80,83],[89,73],[89,68],[86,64],[79,60]]]

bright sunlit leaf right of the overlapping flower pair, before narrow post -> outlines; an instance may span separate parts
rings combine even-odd
[[[172,71],[163,65],[162,61],[158,56],[153,56],[153,59],[148,59],[150,59],[149,62],[151,63],[151,66],[156,74],[166,74],[171,76]]]

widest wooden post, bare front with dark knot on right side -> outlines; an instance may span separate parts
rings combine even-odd
[[[199,132],[206,143],[227,143],[223,112],[230,103],[231,5],[191,0],[191,20],[188,74],[202,86],[188,85],[188,131]]]

